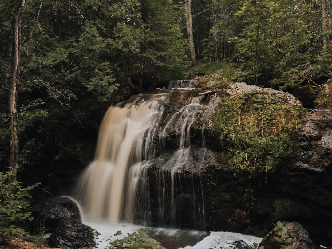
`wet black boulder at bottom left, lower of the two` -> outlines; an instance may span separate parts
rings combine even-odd
[[[64,217],[51,234],[51,246],[61,249],[89,249],[94,246],[93,230],[76,219]]]

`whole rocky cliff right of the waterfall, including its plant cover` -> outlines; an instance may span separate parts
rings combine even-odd
[[[318,97],[324,96],[326,99],[326,95],[331,96],[329,89],[326,86],[326,92],[321,92]],[[192,177],[193,173],[189,172],[193,168],[197,169],[194,174],[203,186],[204,228],[264,236],[273,228],[272,223],[291,220],[302,224],[314,240],[331,246],[330,106],[322,104],[319,106],[320,110],[304,109],[301,102],[290,94],[235,83],[220,91],[204,92],[195,89],[171,94],[164,124],[172,113],[190,103],[193,95],[203,96],[204,107],[195,114],[196,120],[190,131],[190,160],[182,168],[179,179],[183,177],[180,181],[185,183],[186,179]],[[259,145],[261,150],[253,151],[251,148],[252,145],[247,141],[249,138],[245,137],[250,132],[231,134],[229,131],[224,132],[227,128],[223,128],[221,133],[213,130],[216,129],[213,127],[216,113],[221,108],[219,103],[230,100],[235,102],[229,102],[226,110],[230,110],[232,105],[241,105],[239,113],[242,112],[241,115],[245,115],[246,120],[238,118],[238,125],[236,122],[228,124],[234,125],[234,133],[243,131],[238,126],[247,127],[247,131],[251,126],[259,126],[258,130],[252,129],[250,132],[264,133],[258,141],[264,142],[264,146]],[[315,103],[328,101],[316,99]],[[205,130],[203,135],[202,124]],[[169,151],[177,146],[180,125],[181,121],[175,122],[167,134]],[[216,134],[221,135],[218,137]],[[200,155],[202,136],[205,138],[206,148],[204,159]],[[255,139],[253,136],[252,141]],[[242,144],[236,144],[237,141]],[[242,154],[239,153],[240,150],[243,150]],[[261,153],[257,155],[258,152]],[[156,168],[158,166],[154,169]],[[152,170],[150,178],[156,179],[154,174],[157,172]],[[178,201],[182,200],[183,205],[179,205],[177,212],[185,213],[186,198],[182,196],[180,199]],[[200,224],[190,223],[190,219],[183,215],[182,219],[185,227],[202,228]]]

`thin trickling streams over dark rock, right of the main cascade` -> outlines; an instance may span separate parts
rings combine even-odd
[[[195,227],[196,229],[205,227],[200,169],[192,168],[189,161],[191,156],[190,127],[195,121],[197,111],[203,108],[203,105],[200,104],[201,99],[202,97],[193,98],[190,104],[174,113],[159,133],[160,148],[166,154],[158,157],[155,163],[157,173],[154,185],[158,186],[158,190],[148,192],[146,189],[141,189],[139,191],[141,197],[143,197],[142,193],[146,193],[158,198],[158,209],[155,210],[157,220],[152,217],[146,219],[146,217],[150,217],[146,214],[153,212],[151,207],[137,209],[137,213],[142,213],[138,219],[145,218],[147,225],[157,223],[162,227]],[[166,136],[174,128],[179,130],[180,135],[178,149],[169,155],[166,151],[168,147]],[[149,203],[148,199],[149,197],[141,198],[138,206],[142,207]]]

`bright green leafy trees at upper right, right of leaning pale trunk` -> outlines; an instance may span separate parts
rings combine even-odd
[[[212,0],[207,4],[212,25],[202,40],[203,55],[209,62],[236,62],[240,69],[235,81],[289,91],[296,84],[331,77],[332,55],[322,49],[331,31],[323,32],[320,3]]]

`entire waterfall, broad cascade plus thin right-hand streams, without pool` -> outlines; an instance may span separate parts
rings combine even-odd
[[[166,99],[138,95],[105,114],[95,159],[78,183],[77,199],[89,219],[204,229],[199,169],[190,169],[189,162],[190,127],[203,107],[201,98],[193,98],[161,129]],[[175,126],[178,149],[170,154],[166,136]]]

